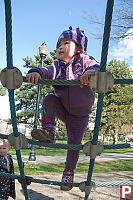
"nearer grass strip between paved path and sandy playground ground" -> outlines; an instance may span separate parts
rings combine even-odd
[[[18,165],[14,164],[15,174],[19,174]],[[88,173],[89,163],[78,163],[75,173]],[[62,173],[64,170],[64,163],[50,164],[26,164],[25,174],[56,174]],[[133,171],[133,159],[132,160],[118,160],[111,162],[95,162],[94,173],[108,173],[108,172],[119,172],[119,171]]]

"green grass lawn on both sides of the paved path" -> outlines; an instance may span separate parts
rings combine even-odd
[[[30,154],[31,149],[22,149],[22,155]],[[129,153],[133,152],[133,148],[124,149],[106,149],[103,153]],[[11,155],[15,155],[16,151],[14,149],[9,152]],[[55,156],[64,155],[66,156],[67,150],[64,149],[53,149],[44,148],[36,149],[36,156]],[[84,155],[83,151],[80,151],[81,155]],[[18,165],[14,164],[15,174],[19,174]],[[89,163],[78,163],[75,173],[88,173]],[[64,170],[64,163],[50,164],[50,163],[40,163],[40,164],[28,164],[25,165],[25,174],[46,174],[46,173],[62,173]],[[107,172],[118,172],[118,171],[133,171],[133,159],[132,160],[118,160],[111,162],[95,162],[94,173],[107,173]]]

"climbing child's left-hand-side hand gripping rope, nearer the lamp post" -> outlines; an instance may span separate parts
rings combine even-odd
[[[32,84],[37,84],[39,79],[41,79],[41,76],[37,72],[32,72],[26,75],[26,80]]]

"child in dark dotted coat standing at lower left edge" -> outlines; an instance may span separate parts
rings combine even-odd
[[[8,140],[0,139],[0,172],[14,174],[12,157],[7,154],[10,148]],[[9,196],[16,198],[15,181],[12,178],[0,176],[0,199],[7,200]]]

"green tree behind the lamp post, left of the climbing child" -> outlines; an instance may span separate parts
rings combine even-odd
[[[50,52],[51,57],[47,57],[44,59],[44,66],[50,65],[53,60],[56,58],[55,51]],[[32,67],[32,66],[40,66],[40,56],[35,55],[33,60],[28,56],[24,58],[25,61],[24,67]],[[36,98],[37,98],[37,86],[32,85],[30,83],[23,83],[22,86],[15,92],[16,95],[16,111],[17,111],[17,119],[20,123],[30,123],[33,124],[33,117],[35,114],[35,105],[36,105]],[[53,92],[52,87],[42,86],[41,95],[40,95],[40,104],[39,107],[41,109],[42,99],[46,93]]]

